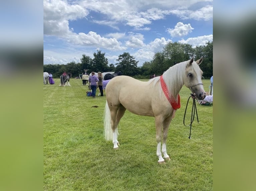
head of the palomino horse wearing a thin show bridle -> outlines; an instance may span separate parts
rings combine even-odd
[[[187,88],[196,94],[197,99],[204,99],[206,92],[202,83],[203,71],[200,69],[199,65],[202,63],[203,57],[197,61],[192,58],[186,64],[186,76],[184,79],[184,84]]]

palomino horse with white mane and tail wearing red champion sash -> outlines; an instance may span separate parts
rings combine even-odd
[[[155,117],[158,163],[164,163],[164,158],[170,160],[166,152],[166,139],[174,113],[180,107],[179,91],[185,85],[196,94],[197,99],[202,100],[206,96],[202,84],[203,72],[198,66],[202,61],[203,57],[196,62],[194,58],[181,62],[170,67],[161,77],[155,77],[148,82],[129,76],[111,79],[106,87],[105,139],[112,140],[114,149],[118,149],[117,126],[126,109],[137,115],[152,116]]]

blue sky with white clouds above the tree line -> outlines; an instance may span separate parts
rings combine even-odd
[[[109,64],[129,52],[142,66],[168,42],[213,40],[212,0],[44,0],[43,10],[44,64],[101,50]]]

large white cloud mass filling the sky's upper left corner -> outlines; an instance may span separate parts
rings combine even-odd
[[[109,50],[125,50],[115,38],[105,38],[90,31],[85,33],[74,33],[69,28],[69,20],[76,20],[87,16],[88,11],[82,6],[70,5],[61,0],[44,1],[44,35],[61,37],[67,42],[76,45],[96,46]],[[109,23],[108,23],[109,24]]]

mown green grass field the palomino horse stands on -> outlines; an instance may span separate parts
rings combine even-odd
[[[186,87],[169,128],[171,160],[159,165],[153,117],[126,111],[119,125],[120,146],[114,150],[103,137],[106,96],[86,96],[88,86],[79,79],[71,79],[70,87],[54,80],[54,85],[43,85],[44,190],[213,190],[213,107],[197,103],[199,123],[195,120],[188,139]],[[210,80],[203,83],[209,92]]]

